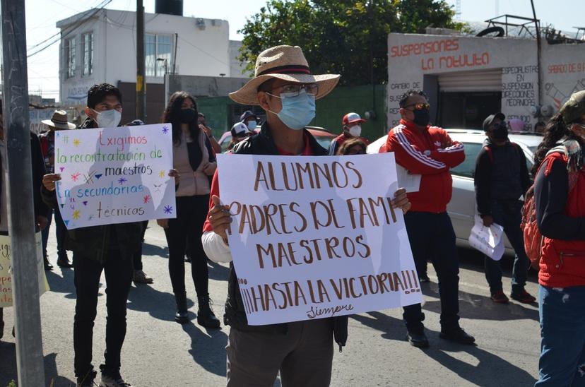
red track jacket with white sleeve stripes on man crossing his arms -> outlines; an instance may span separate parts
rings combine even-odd
[[[411,211],[444,213],[447,210],[453,192],[449,168],[465,160],[463,144],[452,141],[447,131],[437,126],[420,131],[412,122],[401,119],[388,133],[380,152],[394,152],[398,165],[412,174],[422,175],[418,192],[408,194]]]

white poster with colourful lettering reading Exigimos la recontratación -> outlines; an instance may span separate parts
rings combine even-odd
[[[68,230],[176,218],[171,124],[57,131],[59,210]]]

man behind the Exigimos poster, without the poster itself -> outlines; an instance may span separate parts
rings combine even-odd
[[[114,128],[122,117],[122,93],[114,85],[101,83],[88,91],[85,114],[88,118],[80,129]],[[79,130],[79,129],[78,129]],[[178,183],[179,174],[172,169],[169,176]],[[42,198],[57,207],[55,183],[60,174],[45,174]],[[65,247],[73,251],[73,273],[76,290],[73,350],[77,386],[94,386],[93,323],[97,313],[102,271],[106,279],[107,323],[105,364],[102,387],[130,386],[120,375],[122,345],[126,336],[126,302],[134,275],[132,257],[142,243],[142,222],[112,223],[67,230]]]

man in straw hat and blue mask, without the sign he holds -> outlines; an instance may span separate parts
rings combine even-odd
[[[326,155],[305,126],[315,116],[315,100],[336,86],[335,74],[312,75],[300,47],[266,49],[256,59],[255,77],[230,98],[266,111],[260,133],[238,143],[233,153],[252,155]],[[213,177],[203,248],[216,262],[232,261],[225,230],[231,219],[220,206],[218,175]],[[393,205],[406,211],[406,191],[396,191]],[[341,347],[348,335],[348,317],[336,316],[264,326],[249,326],[237,274],[230,263],[224,321],[228,339],[228,386],[273,386],[278,371],[283,386],[329,386],[333,336]]]

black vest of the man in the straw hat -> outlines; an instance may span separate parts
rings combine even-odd
[[[327,150],[309,133],[305,131],[305,138],[308,138],[309,145],[315,156],[327,155]],[[271,133],[266,124],[264,124],[259,133],[238,143],[233,153],[237,155],[278,155],[278,150],[274,144]],[[281,333],[285,334],[288,330],[286,323],[271,324],[264,326],[249,326],[240,294],[240,287],[237,285],[237,275],[233,263],[230,263],[230,274],[228,278],[228,299],[225,302],[225,315],[223,316],[226,325],[237,328],[240,331],[255,331],[264,333]],[[348,339],[348,316],[336,316],[330,318],[333,328],[333,335],[339,350],[345,345]]]

